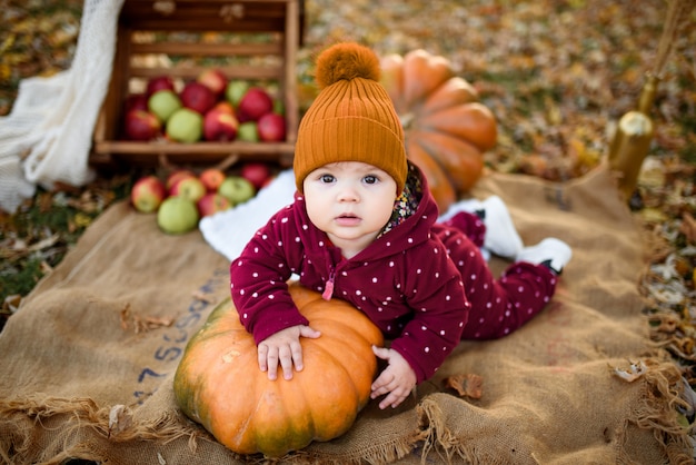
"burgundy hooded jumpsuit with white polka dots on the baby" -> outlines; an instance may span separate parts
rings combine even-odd
[[[350,259],[310,222],[299,192],[256,233],[230,265],[230,288],[257,344],[308,324],[287,291],[292,275],[325,298],[364,311],[418,383],[435,374],[459,340],[503,337],[544,308],[556,288],[553,271],[515,263],[496,279],[479,251],[484,222],[468,212],[436,222],[437,205],[417,168],[411,167],[407,185],[416,197],[412,211],[397,215]]]

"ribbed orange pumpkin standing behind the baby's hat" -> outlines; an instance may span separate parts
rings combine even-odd
[[[418,49],[385,56],[380,65],[381,83],[404,126],[408,158],[424,171],[445,211],[483,175],[484,152],[496,145],[496,119],[444,57]]]

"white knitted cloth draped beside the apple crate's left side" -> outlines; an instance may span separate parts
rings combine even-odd
[[[12,111],[0,118],[0,208],[13,212],[57,181],[81,186],[93,172],[89,151],[107,93],[123,0],[84,0],[69,70],[20,82]]]

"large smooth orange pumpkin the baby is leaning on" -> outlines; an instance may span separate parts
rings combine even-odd
[[[228,298],[191,338],[173,390],[186,415],[239,454],[279,457],[346,433],[369,402],[380,330],[350,304],[301,287],[290,294],[317,339],[302,338],[305,369],[275,382],[259,370],[253,338]]]

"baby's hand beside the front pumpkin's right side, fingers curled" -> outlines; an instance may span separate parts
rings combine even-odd
[[[375,355],[382,360],[389,362],[387,368],[379,374],[372,383],[371,398],[377,398],[382,394],[389,395],[379,403],[379,408],[391,406],[396,408],[411,393],[416,386],[416,373],[401,354],[385,347],[372,346]]]

